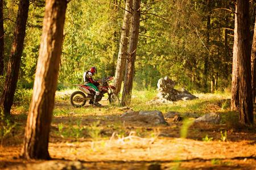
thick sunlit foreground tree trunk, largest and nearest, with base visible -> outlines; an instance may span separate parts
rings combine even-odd
[[[22,148],[25,159],[50,159],[49,127],[57,88],[66,8],[66,0],[46,1],[34,93]]]

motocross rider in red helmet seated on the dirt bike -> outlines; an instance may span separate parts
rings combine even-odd
[[[100,103],[98,103],[97,99],[98,99],[98,96],[100,95],[100,91],[98,91],[98,83],[101,83],[101,80],[93,80],[92,76],[95,74],[97,74],[97,69],[96,67],[90,67],[90,70],[89,71],[85,71],[84,73],[84,82],[85,84],[87,84],[87,86],[90,86],[94,89],[94,92],[96,92],[96,94],[94,95],[94,102],[93,104],[94,105],[97,105],[97,106],[101,106]],[[92,104],[92,101],[90,100],[89,101],[90,104]]]

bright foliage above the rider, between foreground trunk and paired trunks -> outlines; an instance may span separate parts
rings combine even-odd
[[[82,82],[82,74],[96,66],[99,78],[114,75],[122,11],[97,1],[68,4],[59,80]]]

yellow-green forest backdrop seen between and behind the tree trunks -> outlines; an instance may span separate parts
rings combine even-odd
[[[142,1],[141,6],[151,1]],[[235,1],[156,1],[141,13],[133,88],[156,88],[169,76],[191,92],[230,90]],[[19,84],[32,88],[42,36],[44,1],[31,1],[20,61]],[[68,3],[59,88],[83,83],[90,66],[97,78],[115,74],[125,1]],[[250,3],[253,40],[255,5]],[[18,5],[3,1],[5,30],[4,75],[10,57]],[[124,74],[123,74],[124,75]],[[96,79],[97,79],[96,78]],[[4,78],[1,78],[3,85]],[[22,86],[19,86],[22,87]],[[2,86],[1,86],[2,88]],[[2,91],[2,90],[1,90]]]

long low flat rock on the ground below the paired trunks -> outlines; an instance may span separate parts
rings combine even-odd
[[[122,120],[142,121],[149,124],[167,124],[160,111],[126,112],[120,116]]]

